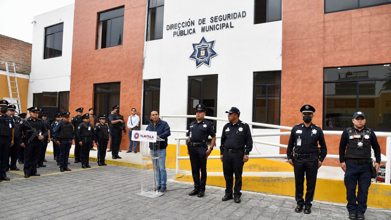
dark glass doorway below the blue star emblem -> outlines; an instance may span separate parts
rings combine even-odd
[[[208,109],[206,116],[217,117],[217,75],[191,76],[188,89],[188,115],[195,115],[195,109],[201,103]],[[187,119],[187,128],[194,120]],[[208,121],[216,128],[215,120]]]

